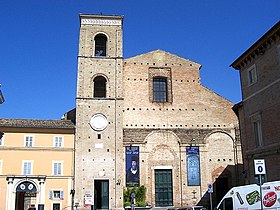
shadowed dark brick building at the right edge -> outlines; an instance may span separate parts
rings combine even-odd
[[[279,180],[280,166],[280,23],[275,24],[245,51],[232,67],[239,70],[242,102],[236,111],[240,120],[245,173],[255,183],[254,160],[266,162],[266,181]],[[256,70],[256,82],[249,84],[249,70]],[[256,144],[253,123],[261,124],[261,144]]]

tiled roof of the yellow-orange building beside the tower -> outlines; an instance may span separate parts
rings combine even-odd
[[[0,127],[74,129],[70,120],[0,119]]]

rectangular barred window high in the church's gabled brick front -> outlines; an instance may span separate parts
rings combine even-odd
[[[166,77],[153,78],[153,101],[167,102],[167,78]]]

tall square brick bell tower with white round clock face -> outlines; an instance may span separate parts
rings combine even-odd
[[[80,15],[75,196],[79,209],[123,209],[123,16]]]

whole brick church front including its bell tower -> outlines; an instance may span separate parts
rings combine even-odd
[[[80,15],[75,205],[123,209],[130,186],[153,207],[217,202],[242,182],[233,104],[201,84],[201,64],[125,59],[122,38],[123,16]]]

